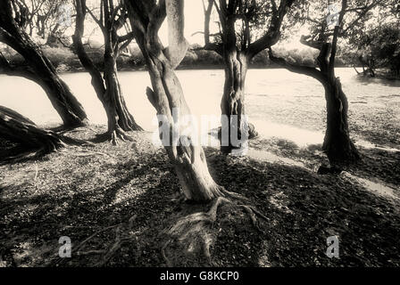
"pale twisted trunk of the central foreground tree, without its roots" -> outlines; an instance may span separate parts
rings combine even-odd
[[[164,143],[164,149],[176,170],[186,199],[207,202],[223,196],[223,188],[210,175],[198,135],[193,133],[193,128],[180,125],[181,118],[190,115],[179,79],[174,72],[187,51],[187,42],[183,36],[183,1],[167,0],[166,7],[163,4],[154,7],[146,1],[126,3],[137,45],[146,59],[153,86],[153,89],[147,88],[147,97],[157,114],[165,118],[162,126],[165,124],[168,129],[161,138],[165,141],[163,135],[172,138],[174,134],[179,134],[177,141],[169,140],[170,142]],[[170,46],[166,49],[157,35],[165,18],[165,11],[168,14],[170,36]]]

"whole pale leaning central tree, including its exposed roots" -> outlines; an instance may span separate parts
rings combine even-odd
[[[204,204],[212,201],[209,211],[196,211],[192,215],[179,217],[165,231],[167,240],[162,246],[162,256],[169,266],[181,264],[182,258],[178,251],[182,248],[183,256],[192,256],[192,253],[196,256],[200,253],[207,258],[207,265],[211,265],[211,234],[207,233],[204,224],[216,221],[219,206],[227,203],[234,211],[244,208],[257,228],[255,214],[262,214],[254,208],[238,204],[237,201],[244,200],[241,196],[226,191],[215,183],[209,173],[203,148],[196,139],[196,129],[184,123],[190,110],[174,72],[187,52],[183,0],[125,0],[125,3],[137,45],[144,54],[152,82],[153,89],[147,87],[147,97],[157,110],[159,119],[162,118],[160,138],[175,167],[185,198]],[[169,36],[169,46],[166,48],[158,37],[158,30],[165,17],[168,20]],[[172,248],[173,254],[169,254],[169,248]],[[193,260],[188,259],[189,262]]]

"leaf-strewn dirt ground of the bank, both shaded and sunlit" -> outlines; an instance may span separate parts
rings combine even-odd
[[[103,131],[89,126],[68,135],[91,139]],[[0,266],[168,264],[167,230],[210,205],[183,203],[171,163],[151,134],[130,135],[134,142],[70,146],[0,167]],[[257,230],[244,210],[222,205],[216,222],[202,230],[211,258],[188,248],[173,265],[399,266],[400,152],[359,149],[358,165],[317,175],[327,163],[321,145],[259,138],[241,158],[206,148],[217,183],[241,193],[266,219]],[[338,259],[326,256],[332,235]],[[62,236],[71,238],[71,258],[58,256]]]

